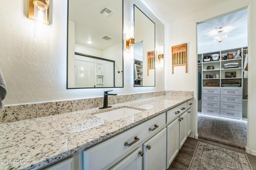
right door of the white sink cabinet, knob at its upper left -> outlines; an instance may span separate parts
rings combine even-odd
[[[143,144],[143,170],[166,170],[166,128]]]

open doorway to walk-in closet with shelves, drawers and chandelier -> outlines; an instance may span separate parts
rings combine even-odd
[[[217,40],[215,37],[214,41],[214,36],[220,33],[224,33],[224,38]],[[200,124],[203,120],[205,125],[212,124],[213,127],[214,124],[215,127],[226,128],[223,129],[223,135],[225,131],[227,135],[230,133],[228,129],[233,126],[232,122],[236,121],[240,132],[244,131],[247,134],[244,125],[245,122],[247,124],[248,96],[247,9],[198,23],[197,36],[199,137],[208,139],[204,134],[205,128]],[[216,118],[220,121],[216,121]],[[205,122],[206,119],[208,122]],[[219,130],[212,128],[210,140],[223,141]],[[241,136],[234,136],[236,135]],[[246,145],[246,139],[247,135],[239,140]]]

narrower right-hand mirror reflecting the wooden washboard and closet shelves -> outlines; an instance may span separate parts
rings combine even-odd
[[[134,87],[155,86],[155,23],[134,4]]]

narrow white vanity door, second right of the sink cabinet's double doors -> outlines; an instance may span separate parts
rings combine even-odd
[[[183,113],[179,117],[179,121],[180,121],[180,147],[179,147],[180,149],[187,139],[187,112]]]

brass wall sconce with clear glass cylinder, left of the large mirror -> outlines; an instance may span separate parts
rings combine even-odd
[[[28,0],[28,19],[34,20],[34,40],[46,42],[50,0]]]

